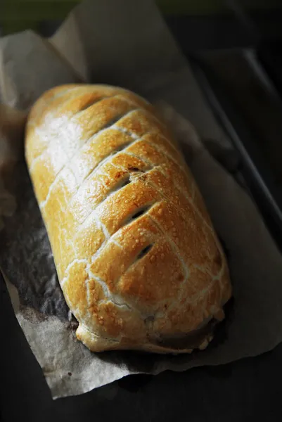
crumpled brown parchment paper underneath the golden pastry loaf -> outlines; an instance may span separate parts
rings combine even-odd
[[[229,139],[155,5],[149,0],[86,1],[51,41],[23,32],[1,39],[0,51],[1,100],[13,107],[27,110],[46,89],[77,81],[118,84],[157,102],[198,181],[226,248],[233,282],[234,302],[226,323],[203,352],[179,357],[89,352],[75,338],[77,323],[58,285],[46,230],[19,154],[13,170],[17,210],[4,217],[0,266],[52,396],[78,395],[130,373],[224,364],[281,342],[281,255],[242,184]],[[3,139],[0,135],[0,142]],[[232,175],[200,139],[212,140],[216,158],[221,157]]]

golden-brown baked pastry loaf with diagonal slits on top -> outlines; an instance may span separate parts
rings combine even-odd
[[[25,154],[77,338],[94,352],[204,348],[229,271],[153,107],[105,85],[51,89],[30,112]]]

